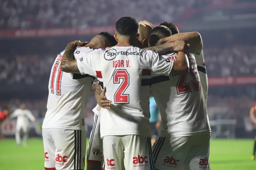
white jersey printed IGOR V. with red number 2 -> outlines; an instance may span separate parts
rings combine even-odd
[[[81,74],[97,76],[111,109],[102,109],[101,137],[141,135],[150,137],[149,92],[151,72],[169,75],[172,60],[153,51],[116,45],[106,51],[93,51],[77,60]]]

